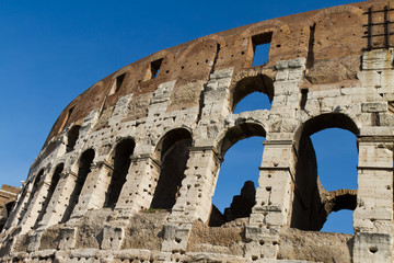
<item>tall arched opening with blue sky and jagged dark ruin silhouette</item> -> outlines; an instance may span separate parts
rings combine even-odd
[[[224,161],[212,197],[209,226],[218,227],[251,215],[256,199],[265,135],[259,125],[241,124],[229,129],[220,141]]]

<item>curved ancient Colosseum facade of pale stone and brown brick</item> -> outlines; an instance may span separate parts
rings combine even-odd
[[[394,262],[393,4],[232,28],[100,80],[54,124],[4,216],[0,262]],[[234,113],[254,92],[270,108]],[[357,137],[357,190],[320,183],[311,136],[326,128]],[[223,157],[253,136],[258,185],[222,214]],[[320,231],[341,209],[355,233]]]

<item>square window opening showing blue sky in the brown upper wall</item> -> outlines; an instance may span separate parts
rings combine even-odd
[[[252,36],[253,64],[252,67],[266,65],[268,62],[269,47],[273,39],[273,32]]]

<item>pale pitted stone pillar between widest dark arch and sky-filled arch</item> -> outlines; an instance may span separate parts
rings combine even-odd
[[[213,147],[190,147],[179,196],[164,226],[164,251],[182,251],[195,220],[208,221],[221,158]]]

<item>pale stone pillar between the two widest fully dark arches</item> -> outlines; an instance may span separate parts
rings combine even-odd
[[[135,211],[150,207],[161,163],[150,155],[131,158],[126,182],[115,207],[120,213],[119,217],[127,218]]]

